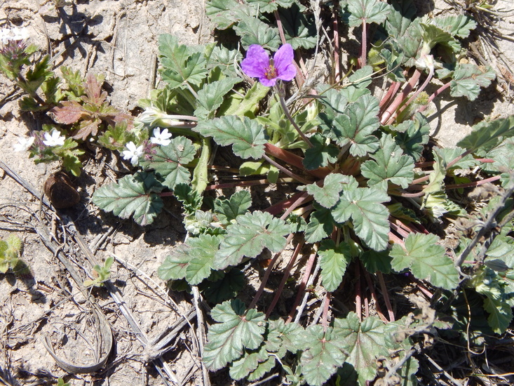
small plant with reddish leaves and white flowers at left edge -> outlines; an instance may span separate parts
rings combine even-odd
[[[20,107],[29,112],[47,112],[55,124],[43,124],[28,138],[19,138],[14,149],[29,152],[36,164],[62,161],[74,175],[81,173],[81,144],[95,142],[109,149],[121,149],[136,138],[130,130],[132,117],[111,107],[102,91],[103,76],[61,67],[61,76],[52,70],[50,57],[36,57],[38,48],[27,45],[25,29],[2,29],[0,71],[27,94]]]

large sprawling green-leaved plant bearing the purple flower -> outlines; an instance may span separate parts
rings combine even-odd
[[[502,223],[501,237],[487,230],[493,244],[480,241],[470,247],[473,253],[484,249],[480,258],[466,251],[471,244],[464,235],[456,251],[447,251],[428,228],[469,215],[454,200],[454,189],[499,181],[510,195],[514,164],[507,138],[514,136],[514,117],[480,122],[454,149],[428,147],[424,112],[431,101],[445,90],[452,98],[475,100],[495,78],[491,67],[461,60],[461,39],[475,22],[464,15],[417,18],[412,1],[349,0],[340,8],[325,7],[360,36],[357,68],[349,65],[348,76],[341,74],[334,50],[325,53],[332,67],[323,80],[323,74],[297,65],[295,50],[299,55],[299,48],[318,47],[321,20],[319,8],[295,0],[208,1],[212,22],[239,36],[245,58],[223,46],[188,47],[162,35],[165,87],[142,101],[145,112],[136,126],[168,128],[165,142],[158,130],[150,144],[128,144],[124,157],[142,170],[97,189],[93,202],[140,225],[154,221],[166,197],[182,202],[189,237],[158,274],[177,286],[198,286],[216,303],[203,354],[211,371],[228,367],[234,380],[252,382],[279,364],[284,382],[298,385],[323,385],[344,371],[353,372],[360,385],[379,378],[387,384],[391,376],[415,385],[421,366],[413,355],[419,352],[416,331],[454,328],[464,337],[467,314],[455,309],[446,315],[452,318],[449,324],[430,307],[395,317],[383,274],[437,288],[442,295],[434,295],[432,304],[438,310],[452,291],[474,291],[496,333],[505,332],[513,318],[512,217]],[[333,38],[336,49],[337,35]],[[379,77],[386,88],[381,98],[372,93],[372,81]],[[440,83],[429,95],[434,79]],[[288,83],[292,80],[296,87]],[[224,181],[225,169],[211,164],[212,141],[219,151],[244,161],[236,182]],[[471,168],[480,174],[462,177],[461,171]],[[211,182],[211,173],[217,182]],[[241,177],[248,175],[260,177]],[[272,183],[284,192],[282,200],[252,201],[252,186]],[[236,187],[241,190],[230,197],[205,197]],[[293,193],[285,194],[291,187]],[[508,202],[501,208],[510,213]],[[297,244],[282,282],[272,288],[271,303],[259,302],[293,235]],[[288,281],[302,247],[309,256],[303,277]],[[274,256],[247,307],[236,298],[245,288],[240,268],[264,251]],[[318,270],[321,289],[313,295],[320,300],[319,319],[309,324],[301,300]],[[349,307],[355,311],[330,314],[332,298],[349,275],[362,278],[350,288],[355,305]],[[374,277],[384,295],[382,306],[374,298],[376,317],[363,312],[364,277],[369,286]],[[275,306],[283,289],[295,284],[297,296],[288,314],[280,314]],[[395,361],[403,366],[395,367]]]

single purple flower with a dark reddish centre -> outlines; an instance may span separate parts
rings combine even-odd
[[[291,81],[296,76],[296,68],[293,64],[295,53],[290,44],[284,44],[278,48],[269,59],[269,54],[258,44],[252,44],[246,53],[246,58],[241,62],[241,68],[248,76],[259,78],[264,86],[275,86],[276,80]]]

